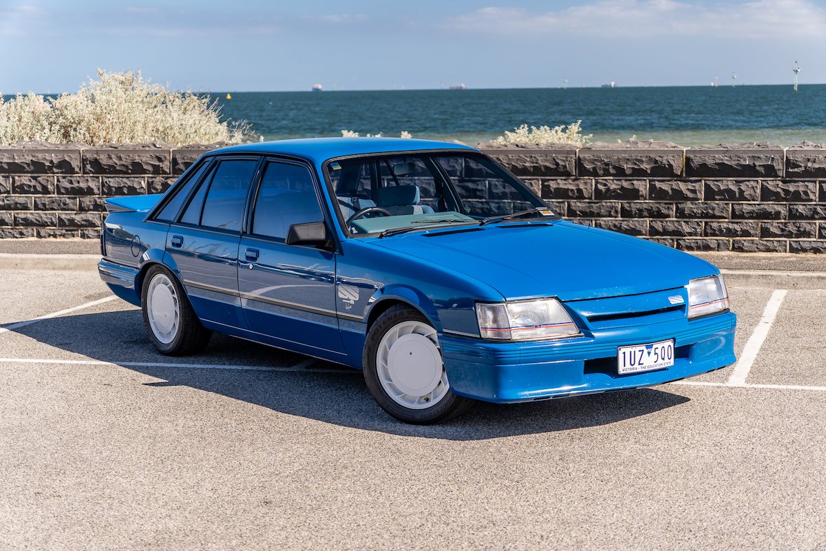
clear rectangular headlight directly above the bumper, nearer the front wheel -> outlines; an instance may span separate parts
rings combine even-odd
[[[483,339],[530,340],[579,335],[579,328],[555,298],[537,301],[479,302],[479,334]]]

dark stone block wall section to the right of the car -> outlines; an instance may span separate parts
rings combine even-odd
[[[677,249],[826,252],[826,149],[489,146],[561,216]]]

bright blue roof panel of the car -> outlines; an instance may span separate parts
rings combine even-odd
[[[449,141],[414,140],[411,138],[306,138],[232,145],[211,151],[210,154],[282,154],[301,157],[320,164],[327,159],[348,155],[427,150],[475,151],[468,145],[454,144]]]

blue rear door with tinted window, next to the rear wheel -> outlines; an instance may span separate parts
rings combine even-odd
[[[246,327],[238,295],[238,245],[259,159],[219,159],[167,235],[192,308],[202,320]]]

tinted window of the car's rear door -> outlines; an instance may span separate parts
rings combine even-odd
[[[247,189],[257,164],[258,161],[250,159],[221,161],[211,178],[198,188],[181,221],[240,231]]]

